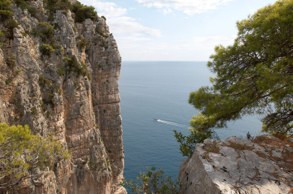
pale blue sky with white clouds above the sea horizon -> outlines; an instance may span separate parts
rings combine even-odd
[[[122,61],[207,61],[236,21],[275,0],[79,0],[105,16]]]

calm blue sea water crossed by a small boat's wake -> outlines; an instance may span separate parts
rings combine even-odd
[[[189,134],[189,121],[198,111],[188,104],[189,93],[211,85],[206,62],[122,61],[119,89],[123,127],[124,177],[136,180],[146,166],[163,169],[177,179],[185,159],[173,130]],[[154,121],[153,118],[159,119]],[[220,139],[259,133],[261,122],[254,117],[229,123],[217,130]]]

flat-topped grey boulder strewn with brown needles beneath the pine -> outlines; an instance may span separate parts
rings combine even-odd
[[[197,144],[180,165],[180,193],[293,193],[293,139],[229,137]]]

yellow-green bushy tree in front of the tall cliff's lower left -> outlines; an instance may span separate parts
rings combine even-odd
[[[69,157],[59,141],[32,135],[28,125],[0,124],[0,189],[6,193],[21,181],[36,177],[36,168],[45,169]]]

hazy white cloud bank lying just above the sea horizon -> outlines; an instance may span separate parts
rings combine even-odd
[[[236,36],[202,36],[170,42],[146,41],[144,44],[120,42],[125,60],[198,60],[207,61],[216,45],[231,45]]]

